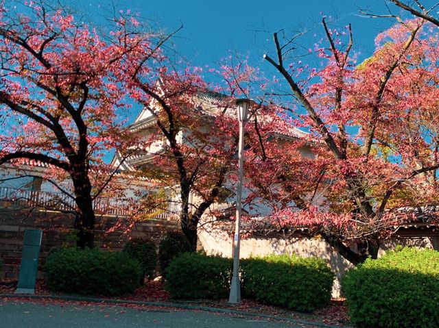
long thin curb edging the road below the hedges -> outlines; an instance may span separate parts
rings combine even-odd
[[[198,305],[187,305],[182,303],[163,303],[163,302],[143,302],[143,301],[128,301],[123,299],[97,299],[94,297],[80,297],[80,296],[71,296],[71,295],[32,295],[32,294],[0,294],[0,298],[3,299],[59,299],[64,301],[78,301],[78,302],[93,302],[93,303],[109,303],[109,304],[134,304],[134,305],[144,305],[144,306],[156,306],[156,307],[168,307],[174,309],[182,309],[182,310],[200,310],[204,312],[212,312],[212,313],[220,313],[220,314],[235,314],[238,316],[246,316],[246,317],[258,317],[265,319],[274,319],[286,321],[289,323],[298,323],[300,325],[309,325],[316,326],[322,328],[351,328],[349,326],[331,326],[324,323],[286,318],[283,316],[272,316],[270,314],[259,314],[254,312],[245,312],[245,311],[237,311],[230,309],[222,309],[219,307],[207,307],[207,306],[198,306]]]

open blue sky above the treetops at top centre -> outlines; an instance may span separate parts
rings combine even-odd
[[[433,1],[425,1],[429,3]],[[92,15],[108,8],[111,0],[76,0],[75,8]],[[173,39],[180,55],[192,64],[213,66],[228,51],[248,55],[252,64],[262,64],[262,55],[273,50],[272,33],[285,29],[287,34],[308,29],[302,42],[311,42],[323,32],[322,14],[331,20],[332,27],[353,25],[355,50],[366,58],[374,49],[374,38],[394,23],[385,18],[364,18],[359,8],[377,14],[387,14],[385,0],[132,0],[117,1],[118,8],[139,12],[152,25],[173,31],[180,24],[182,31]],[[99,9],[100,8],[100,9]],[[399,14],[400,10],[391,6]]]

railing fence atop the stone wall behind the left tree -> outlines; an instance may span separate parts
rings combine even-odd
[[[93,201],[93,208],[95,214],[130,216],[132,215],[132,201],[130,199],[98,197]],[[73,212],[76,208],[75,200],[61,192],[24,190],[9,187],[0,187],[0,202],[3,202],[3,207],[5,205],[40,207],[60,212]],[[160,219],[167,219],[171,216],[172,214],[169,212],[161,212],[155,215],[156,218]]]

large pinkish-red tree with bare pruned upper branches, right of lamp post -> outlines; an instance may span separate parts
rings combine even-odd
[[[272,220],[321,236],[353,264],[377,257],[382,240],[412,219],[398,207],[438,200],[438,33],[423,18],[379,34],[361,64],[351,26],[331,29],[325,19],[326,44],[309,49],[322,68],[294,60],[294,40],[277,33],[274,55],[264,55],[285,82],[296,124],[310,129],[316,155],[298,188],[277,189],[294,205],[277,198]],[[302,183],[311,188],[300,194]]]

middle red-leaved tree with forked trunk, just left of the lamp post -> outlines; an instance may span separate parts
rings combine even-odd
[[[140,142],[128,162],[152,177],[157,187],[174,188],[179,195],[176,214],[195,251],[202,216],[219,214],[213,213],[213,205],[234,195],[230,188],[235,179],[239,129],[231,101],[241,97],[243,83],[247,87],[249,81],[257,83],[257,74],[242,62],[223,65],[209,73],[221,75],[224,84],[207,84],[202,68],[178,68],[162,50],[152,56],[156,61],[153,66],[146,66],[143,60],[150,57],[150,49],[140,55],[132,53],[127,59],[134,64],[124,71],[126,86],[146,113],[141,116],[143,121],[129,128]],[[250,120],[254,124],[248,134],[249,138],[259,134],[259,140],[265,142],[269,125],[258,123],[263,112],[258,108],[252,109]],[[145,121],[153,123],[150,131],[136,132]],[[157,144],[159,150],[154,151]]]

